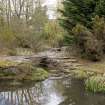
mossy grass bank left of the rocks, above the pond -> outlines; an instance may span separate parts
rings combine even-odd
[[[0,80],[41,81],[47,77],[48,72],[46,70],[35,67],[31,63],[0,61]]]

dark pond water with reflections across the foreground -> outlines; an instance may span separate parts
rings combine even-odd
[[[25,87],[2,86],[0,105],[105,105],[105,95],[87,92],[80,80],[48,79]]]

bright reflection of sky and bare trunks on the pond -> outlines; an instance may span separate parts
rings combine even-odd
[[[0,105],[58,105],[63,101],[56,82],[46,80],[33,87],[0,92]]]

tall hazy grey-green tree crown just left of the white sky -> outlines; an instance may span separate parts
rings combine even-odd
[[[39,4],[32,15],[30,25],[33,27],[33,29],[36,32],[43,31],[45,23],[47,23],[48,21],[48,16],[46,15],[46,11],[47,8],[42,7],[41,4]]]

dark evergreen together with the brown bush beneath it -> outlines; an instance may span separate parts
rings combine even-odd
[[[93,60],[99,59],[105,46],[104,5],[105,0],[64,0],[60,10],[60,24],[69,33],[69,40],[74,38],[82,55]]]

